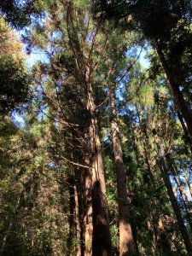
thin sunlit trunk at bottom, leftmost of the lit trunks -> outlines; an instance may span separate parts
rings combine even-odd
[[[76,225],[76,239],[77,239],[77,253],[76,256],[81,256],[81,225],[79,220],[79,198],[76,184],[74,184],[74,202],[75,202],[75,225]]]

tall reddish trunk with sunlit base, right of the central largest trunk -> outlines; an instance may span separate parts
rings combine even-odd
[[[117,111],[115,108],[114,91],[110,91],[111,112],[112,112],[112,138],[113,152],[117,177],[117,189],[119,197],[119,255],[131,255],[136,251],[132,230],[131,214],[126,190],[126,176],[123,162],[122,148],[119,139],[119,127],[117,123]]]

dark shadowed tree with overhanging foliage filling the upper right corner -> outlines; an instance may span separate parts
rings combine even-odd
[[[98,8],[96,4],[96,12],[102,11],[102,14],[109,19],[119,20],[119,22],[122,20],[122,24],[127,23],[134,27],[135,23],[135,27],[140,29],[154,45],[169,81],[174,101],[183,114],[191,136],[191,108],[181,90],[182,86],[189,86],[189,84],[186,85],[186,80],[190,80],[189,53],[191,53],[192,39],[189,28],[190,3],[183,0],[177,2],[165,0],[155,3],[150,0],[147,2],[136,0],[128,3],[98,1],[97,3],[100,5]],[[177,36],[175,36],[176,33]],[[184,68],[183,63],[185,63]]]

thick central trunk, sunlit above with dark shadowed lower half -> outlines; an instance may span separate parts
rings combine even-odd
[[[111,251],[102,148],[96,119],[93,90],[87,79],[87,110],[90,113],[90,152],[92,166],[93,255],[107,256]]]

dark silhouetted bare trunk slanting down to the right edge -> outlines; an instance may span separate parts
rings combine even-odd
[[[177,106],[180,109],[180,111],[183,115],[183,118],[188,126],[189,134],[190,134],[190,136],[192,136],[192,112],[189,109],[187,103],[185,102],[181,90],[179,90],[179,86],[175,80],[174,74],[168,67],[166,57],[163,54],[160,44],[158,42],[155,42],[154,46],[157,51],[157,54],[159,55],[160,62],[164,69],[164,72],[166,73],[166,78],[169,81],[170,89],[172,90],[174,100],[177,103]]]

